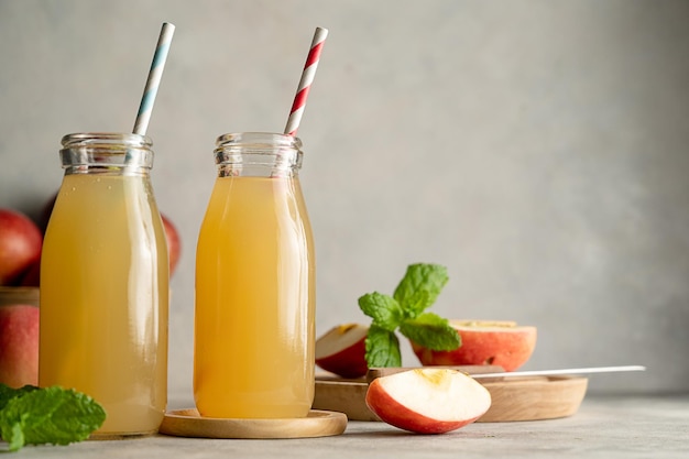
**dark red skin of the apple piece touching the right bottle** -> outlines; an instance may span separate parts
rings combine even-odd
[[[365,375],[367,371],[369,371],[365,358],[368,331],[369,327],[360,324],[346,324],[333,327],[316,341],[316,364],[326,371],[347,379],[357,379]],[[348,332],[359,334],[360,338],[338,352],[318,357],[321,353],[321,342],[324,339],[327,339],[328,335],[343,337]]]

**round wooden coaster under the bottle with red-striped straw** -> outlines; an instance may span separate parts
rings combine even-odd
[[[158,431],[195,438],[311,438],[340,435],[346,428],[347,415],[319,409],[294,419],[221,419],[187,408],[166,413]]]

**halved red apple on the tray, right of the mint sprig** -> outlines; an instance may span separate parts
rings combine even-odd
[[[450,325],[461,337],[461,346],[453,351],[434,351],[412,342],[424,365],[497,365],[514,371],[536,347],[536,327],[488,320],[450,320]]]

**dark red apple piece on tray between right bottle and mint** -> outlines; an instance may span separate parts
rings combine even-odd
[[[367,374],[365,339],[369,327],[344,324],[332,327],[316,340],[316,363],[324,370],[342,378]]]

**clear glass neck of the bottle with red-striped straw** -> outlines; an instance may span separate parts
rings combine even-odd
[[[218,177],[296,177],[302,167],[302,141],[286,134],[242,132],[216,141]]]

